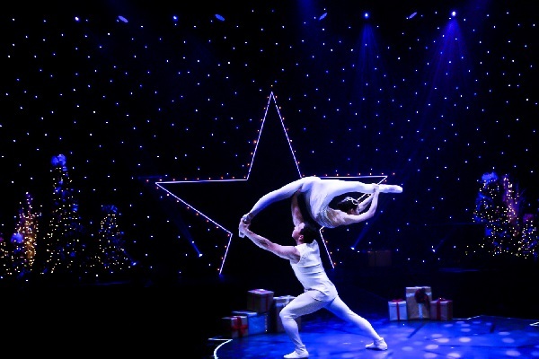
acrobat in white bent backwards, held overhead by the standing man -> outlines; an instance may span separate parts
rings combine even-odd
[[[270,204],[292,197],[299,191],[304,194],[305,204],[309,215],[323,227],[335,228],[339,225],[349,224],[342,220],[343,214],[339,210],[332,209],[329,205],[334,197],[351,192],[372,194],[376,184],[367,184],[357,180],[323,180],[319,177],[304,177],[287,185],[271,191],[259,199],[247,215],[243,215],[243,221],[251,223],[252,218],[258,215],[262,209]],[[397,185],[378,185],[380,193],[402,193],[402,187]]]

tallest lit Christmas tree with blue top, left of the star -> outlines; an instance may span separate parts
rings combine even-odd
[[[41,274],[77,279],[87,274],[86,232],[80,215],[75,189],[66,166],[66,156],[58,154],[51,161],[53,173],[52,213],[44,238]]]

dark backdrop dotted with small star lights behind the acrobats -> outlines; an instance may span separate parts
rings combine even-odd
[[[238,239],[237,222],[298,170],[404,188],[328,233],[336,264],[365,250],[418,266],[462,255],[481,241],[470,223],[485,172],[510,176],[537,214],[533,2],[223,3],[0,15],[4,237],[26,192],[47,213],[58,153],[84,220],[116,206],[131,256],[172,276],[216,274],[227,249],[232,272],[279,260]],[[194,181],[167,187],[189,199],[160,181]],[[289,204],[268,213],[253,226],[290,244]]]

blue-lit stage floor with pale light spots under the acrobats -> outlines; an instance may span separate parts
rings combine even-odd
[[[465,319],[390,321],[368,319],[388,345],[365,349],[371,340],[350,324],[318,315],[302,321],[310,358],[539,358],[539,320],[477,316]],[[208,358],[282,358],[294,350],[285,333],[241,338],[211,337]]]

